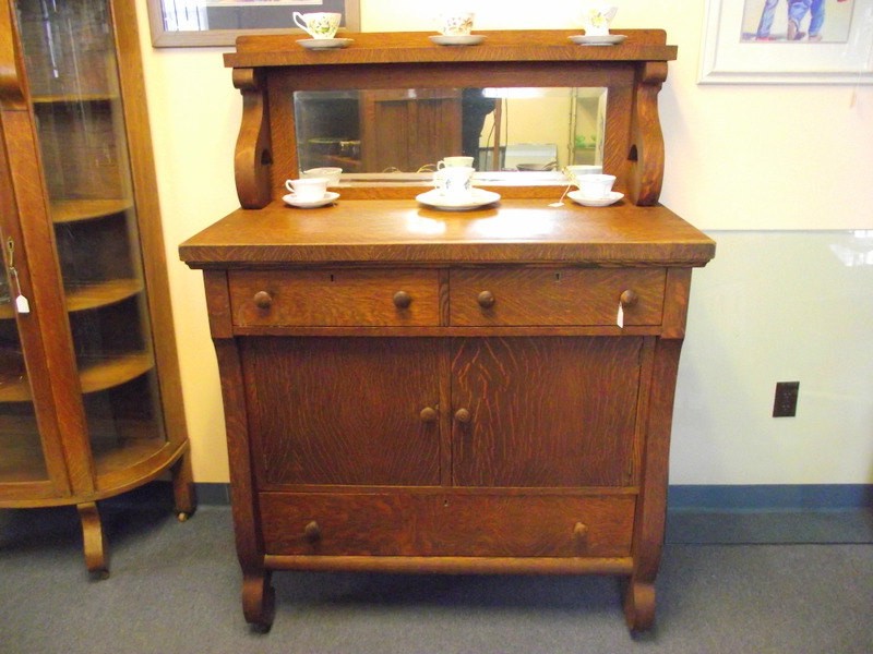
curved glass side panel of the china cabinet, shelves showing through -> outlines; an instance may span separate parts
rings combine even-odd
[[[166,444],[111,13],[16,8],[99,488]]]

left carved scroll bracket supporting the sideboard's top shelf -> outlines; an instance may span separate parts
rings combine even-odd
[[[234,69],[234,86],[242,94],[242,123],[234,155],[237,195],[244,209],[270,204],[270,172],[273,153],[266,85],[256,69]]]

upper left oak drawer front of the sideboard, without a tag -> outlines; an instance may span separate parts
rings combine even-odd
[[[234,325],[439,325],[436,270],[252,270],[229,272]],[[406,293],[409,303],[403,306]]]

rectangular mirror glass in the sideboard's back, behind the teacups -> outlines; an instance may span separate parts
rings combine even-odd
[[[298,90],[298,162],[390,183],[467,156],[481,181],[554,183],[566,166],[602,164],[606,107],[600,87]]]

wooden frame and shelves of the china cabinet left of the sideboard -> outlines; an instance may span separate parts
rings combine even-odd
[[[63,4],[57,7],[62,9]],[[116,60],[117,85],[112,80],[109,88],[100,93],[83,93],[76,86],[69,94],[46,90],[28,77],[22,46],[23,27],[14,3],[4,3],[0,11],[0,68],[3,70],[0,81],[3,143],[0,231],[4,240],[12,239],[15,243],[17,281],[32,310],[29,313],[0,312],[0,319],[14,323],[26,362],[26,375],[19,384],[3,385],[0,402],[33,403],[39,456],[45,458],[46,467],[45,480],[0,483],[0,507],[76,506],[82,520],[86,566],[92,572],[104,574],[108,572],[108,552],[98,500],[170,471],[180,516],[187,517],[195,509],[136,11],[132,0],[108,1],[105,10],[112,35],[106,47]],[[116,148],[115,144],[105,147],[123,159],[122,165],[129,165],[130,180],[120,183],[120,192],[106,197],[55,197],[50,193],[49,186],[55,180],[47,172],[49,162],[40,150],[38,113],[63,111],[79,104],[101,111],[108,116],[107,120],[115,121],[113,128],[120,126],[123,131],[125,148]],[[93,135],[93,140],[99,141],[100,135]],[[116,150],[123,152],[116,155]],[[142,279],[109,275],[106,279],[88,279],[86,284],[62,279],[62,245],[56,231],[59,227],[128,225],[125,221],[134,220],[134,215],[136,242],[125,254],[132,266],[142,267]],[[9,274],[13,264],[5,244],[3,251]],[[99,252],[91,255],[96,261]],[[111,264],[107,267],[115,270]],[[113,353],[87,365],[82,352],[74,351],[71,316],[112,311],[125,302],[133,303],[137,313],[140,306],[147,307],[150,319],[143,330],[150,335],[147,342],[140,350]],[[130,316],[127,319],[131,319]],[[131,327],[128,330],[135,331]],[[152,370],[156,371],[153,390],[160,402],[158,433],[145,435],[144,440],[150,441],[147,446],[98,451],[91,438],[94,425],[88,424],[86,417],[86,397],[142,379]],[[143,431],[139,426],[133,429]]]

